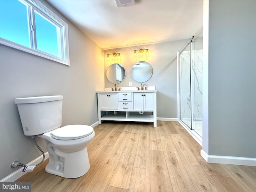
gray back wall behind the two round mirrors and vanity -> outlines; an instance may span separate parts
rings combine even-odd
[[[192,33],[193,34],[193,33]],[[138,61],[146,61],[153,68],[153,75],[145,86],[156,86],[157,92],[157,117],[158,118],[177,118],[177,51],[184,45],[186,40],[149,44],[144,46],[133,46],[126,48],[117,48],[104,50],[105,61],[105,85],[106,87],[114,87],[106,78],[106,70],[113,62],[106,59],[107,54],[113,52],[121,53],[120,64],[126,70],[124,81],[117,84],[118,87],[128,87],[132,82],[132,87],[140,87],[140,83],[136,82],[131,76],[132,66]],[[140,48],[149,49],[149,57],[145,60],[142,58],[134,58],[133,50]]]

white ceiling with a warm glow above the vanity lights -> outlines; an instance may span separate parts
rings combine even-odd
[[[203,0],[46,0],[103,50],[184,40],[203,24]]]

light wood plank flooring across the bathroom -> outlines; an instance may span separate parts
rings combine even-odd
[[[17,181],[32,192],[256,192],[256,167],[210,164],[178,122],[102,122],[87,146],[90,170],[76,179],[44,171]]]

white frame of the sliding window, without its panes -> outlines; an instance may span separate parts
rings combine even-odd
[[[22,46],[20,44],[14,43],[12,41],[6,40],[4,38],[0,38],[0,44],[3,44],[5,46],[9,46],[24,52],[28,52],[30,54],[34,54],[36,56],[40,56],[49,60],[53,60],[65,65],[70,65],[69,62],[69,49],[68,49],[68,24],[64,22],[62,19],[60,19],[56,14],[54,14],[50,9],[48,9],[44,4],[39,2],[38,0],[19,0],[21,3],[24,3],[29,6],[28,14],[32,15],[32,17],[29,18],[28,27],[31,28],[35,27],[35,19],[34,19],[34,11],[38,12],[42,16],[44,16],[49,22],[52,24],[60,27],[60,39],[59,42],[61,44],[61,56],[62,58],[59,58],[57,56],[51,55],[49,53],[40,51],[36,49],[36,33],[35,30],[29,29],[30,31],[30,47],[28,48],[26,46]],[[31,12],[33,14],[31,14]]]

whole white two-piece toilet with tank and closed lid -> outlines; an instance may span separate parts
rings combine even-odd
[[[17,98],[24,134],[46,139],[49,163],[46,172],[64,178],[78,178],[90,169],[86,146],[94,138],[91,126],[62,122],[63,96]]]

